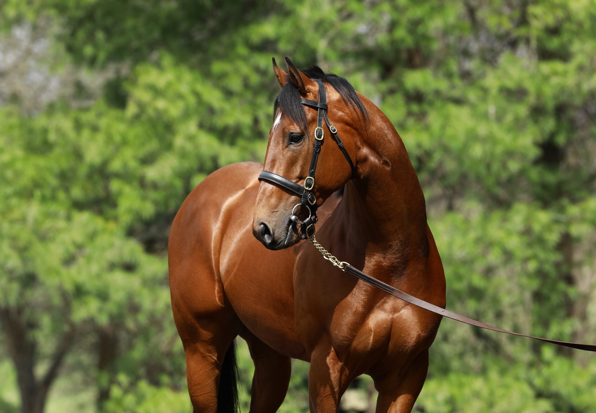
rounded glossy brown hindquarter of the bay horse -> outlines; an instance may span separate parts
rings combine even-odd
[[[256,196],[256,176],[261,169],[262,164],[255,162],[222,167],[203,179],[182,203],[168,242],[175,312],[177,307],[179,313],[205,314],[224,306],[222,242],[226,232],[234,231],[231,213],[243,206],[247,192],[254,192],[248,198]]]

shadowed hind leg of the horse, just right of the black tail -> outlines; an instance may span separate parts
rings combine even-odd
[[[240,336],[249,344],[250,356],[254,363],[250,412],[277,412],[290,384],[290,358],[263,343],[246,328]]]

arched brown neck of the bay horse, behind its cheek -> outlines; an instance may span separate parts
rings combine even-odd
[[[367,261],[403,273],[429,253],[424,195],[398,132],[374,104],[365,105],[370,119],[356,156],[362,178],[344,191],[348,236],[363,240]]]

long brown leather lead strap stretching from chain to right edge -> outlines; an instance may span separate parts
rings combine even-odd
[[[483,322],[473,320],[466,316],[459,315],[457,313],[446,310],[444,308],[440,308],[434,304],[427,303],[424,300],[417,299],[416,297],[411,296],[407,293],[404,293],[403,291],[398,290],[397,288],[392,287],[391,285],[386,284],[383,281],[377,280],[376,278],[365,274],[364,272],[360,271],[359,269],[354,268],[351,265],[346,265],[344,267],[344,271],[347,272],[347,274],[351,274],[354,277],[357,277],[360,280],[367,282],[370,285],[373,285],[373,287],[376,287],[379,290],[383,290],[387,294],[391,294],[394,297],[398,297],[398,299],[402,299],[403,301],[405,301],[407,303],[410,303],[417,307],[423,308],[425,310],[429,310],[430,312],[433,312],[435,314],[445,316],[447,318],[451,318],[456,321],[464,322],[465,324],[474,325],[475,327],[480,327],[480,328],[486,328],[486,330],[498,331],[499,333],[512,334],[513,336],[527,337],[528,339],[540,340],[540,341],[544,341],[545,343],[558,344],[559,346],[564,346],[564,347],[571,347],[572,349],[596,352],[595,344],[570,343],[569,341],[559,341],[559,340],[543,339],[542,337],[526,336],[526,334],[514,333],[513,331],[503,330],[502,328],[494,327],[493,325],[485,324]]]

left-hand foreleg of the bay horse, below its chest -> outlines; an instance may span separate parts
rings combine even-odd
[[[316,349],[311,354],[308,374],[308,396],[311,413],[334,413],[352,375],[337,359],[333,347]]]

